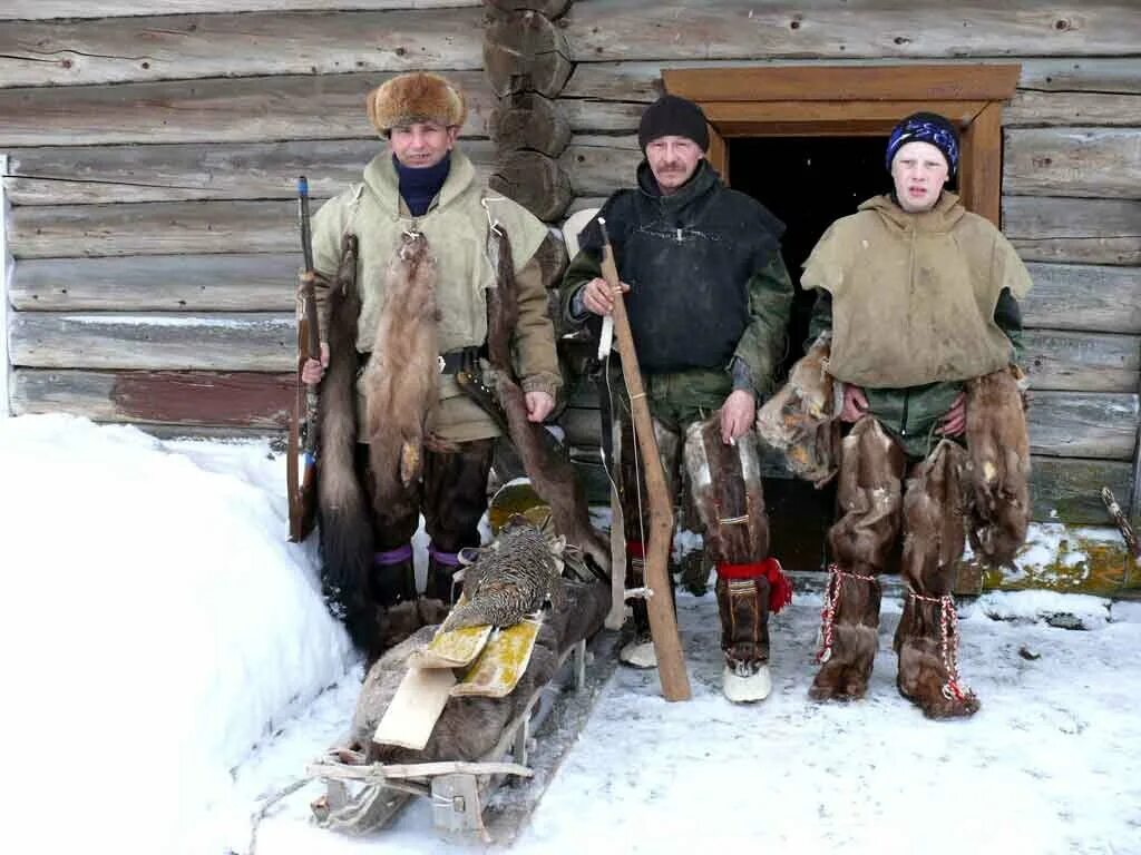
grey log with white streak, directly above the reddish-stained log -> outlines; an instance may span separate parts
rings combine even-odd
[[[13,366],[138,370],[289,372],[292,314],[13,312]]]

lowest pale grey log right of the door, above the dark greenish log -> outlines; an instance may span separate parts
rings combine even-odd
[[[1031,392],[1027,422],[1033,454],[1132,462],[1138,394]]]

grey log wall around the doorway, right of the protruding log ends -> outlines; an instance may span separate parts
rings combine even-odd
[[[537,8],[540,3],[518,3]],[[768,64],[1019,63],[1003,111],[1002,218],[1035,290],[1023,304],[1035,516],[1134,516],[1141,372],[1141,7],[1036,0],[577,0],[556,23],[573,67],[555,109],[567,213],[631,186],[636,132],[662,70]],[[900,73],[906,73],[901,71]],[[759,93],[759,98],[763,95]],[[597,459],[590,393],[561,422]]]

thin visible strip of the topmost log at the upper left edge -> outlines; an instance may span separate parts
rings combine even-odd
[[[434,9],[479,6],[482,0],[337,0],[338,9]],[[7,0],[0,16],[13,19],[104,18],[148,15],[153,0]],[[329,0],[165,0],[162,8],[172,15],[219,11],[324,11]]]

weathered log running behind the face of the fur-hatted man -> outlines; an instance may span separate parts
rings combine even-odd
[[[491,140],[462,140],[460,148],[487,180],[495,163]],[[359,181],[385,150],[377,138],[19,148],[9,153],[6,193],[16,205],[293,198],[305,174],[318,201]]]

